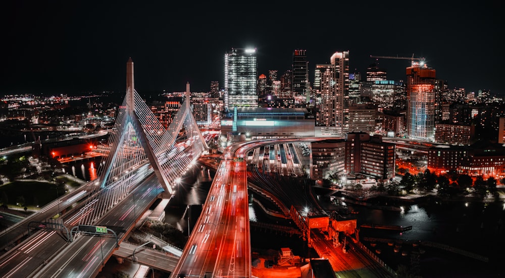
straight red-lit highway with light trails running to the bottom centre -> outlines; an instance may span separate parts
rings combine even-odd
[[[243,154],[240,153],[242,156]],[[218,168],[171,277],[250,277],[250,238],[245,161],[228,156]]]

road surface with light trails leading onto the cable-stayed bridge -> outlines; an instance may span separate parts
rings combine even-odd
[[[138,217],[135,213],[144,212],[156,200],[156,188],[158,186],[158,180],[154,175],[151,175],[137,186],[128,197],[116,204],[103,219],[100,219],[97,226],[112,229],[120,237],[120,241]],[[69,210],[57,221],[54,221],[54,225],[48,224],[48,219],[57,215],[59,210],[63,211],[65,207],[80,199],[76,196],[82,196],[85,193],[84,191],[92,191],[92,187],[91,183],[81,186],[79,190],[45,206],[39,212],[30,215],[24,221],[11,227],[8,232],[3,233],[2,243],[12,243],[14,239],[25,238],[25,234],[28,233],[28,223],[30,223],[29,227],[32,227],[29,238],[22,240],[16,246],[9,244],[11,249],[0,257],[0,276],[6,278],[29,277],[37,273],[36,275],[39,277],[80,277],[80,274],[78,275],[75,271],[79,269],[79,265],[83,265],[75,260],[94,262],[99,256],[100,260],[103,258],[104,262],[107,261],[107,257],[112,254],[116,247],[115,238],[106,237],[106,235],[101,238],[80,235],[72,242],[68,241],[71,229],[79,221],[80,214],[78,210]],[[132,194],[135,194],[135,207]],[[130,195],[132,196],[129,197]],[[41,225],[41,223],[45,224]],[[99,244],[100,248],[97,248],[98,245],[96,244]],[[56,260],[52,261],[53,258],[56,258]],[[72,263],[67,264],[67,261]],[[91,267],[91,265],[101,266],[101,264],[91,263],[88,265],[89,267],[83,266],[83,269],[85,269],[83,271],[86,273],[85,277],[92,277],[93,275],[90,275],[90,273],[97,272],[96,267]],[[49,275],[49,273],[51,274]]]

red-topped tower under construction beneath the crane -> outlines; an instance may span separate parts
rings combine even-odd
[[[407,67],[407,130],[411,139],[434,140],[435,69],[423,62]]]

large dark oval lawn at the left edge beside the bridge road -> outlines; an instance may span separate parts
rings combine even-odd
[[[3,200],[7,194],[8,206],[23,206],[17,204],[18,198],[22,196],[28,207],[44,206],[45,204],[63,195],[65,192],[58,192],[56,184],[39,181],[13,181],[0,187],[0,198]]]

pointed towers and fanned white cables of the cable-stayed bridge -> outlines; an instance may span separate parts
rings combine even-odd
[[[96,197],[84,206],[79,225],[93,225],[132,186],[153,172],[163,189],[162,197],[171,198],[178,177],[208,149],[191,113],[189,84],[183,105],[165,129],[134,89],[131,58],[127,62],[126,80],[126,97],[108,142],[109,156],[95,181]],[[191,144],[177,145],[180,133]]]

